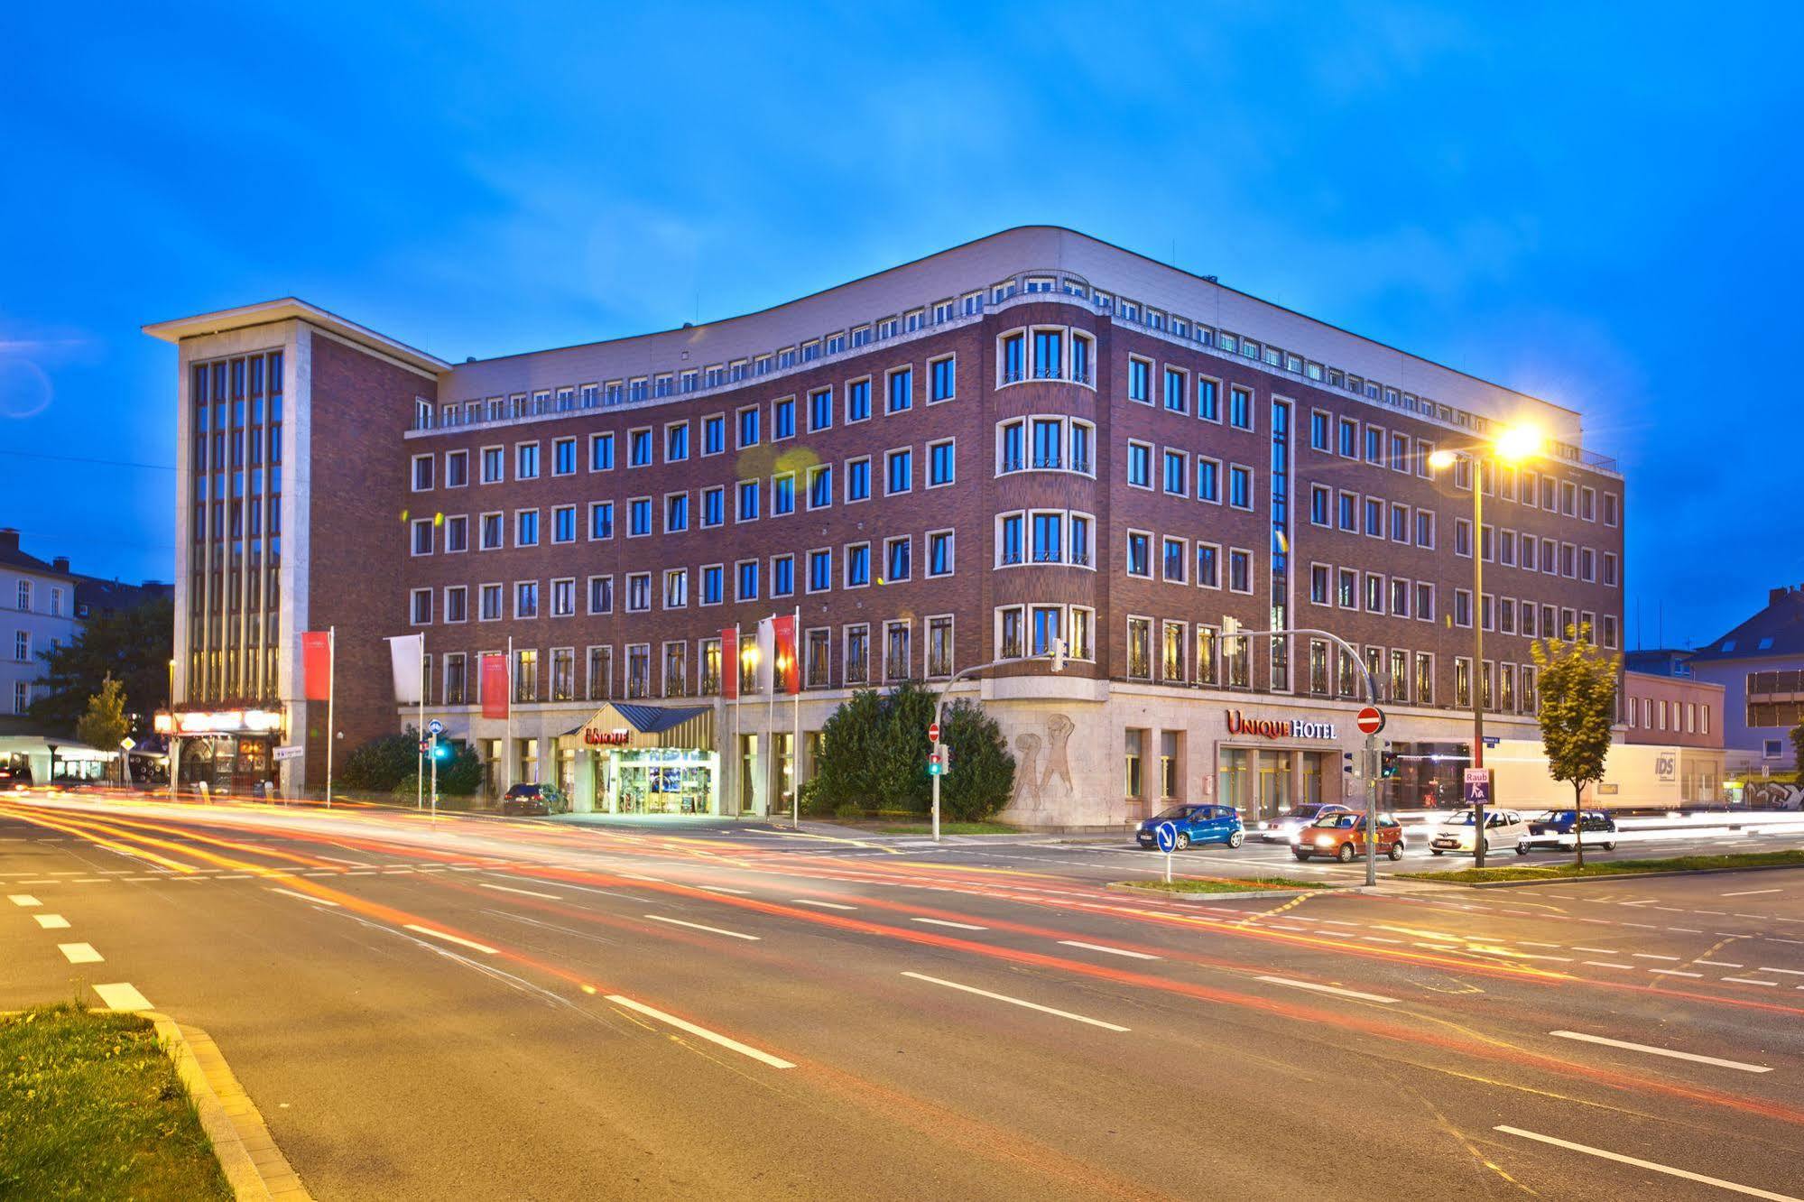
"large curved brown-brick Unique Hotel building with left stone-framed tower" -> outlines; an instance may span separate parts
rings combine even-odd
[[[1624,480],[1578,413],[1068,229],[483,361],[298,300],[146,330],[180,356],[184,778],[323,783],[296,652],[330,626],[337,747],[415,720],[382,639],[424,632],[428,717],[577,809],[767,812],[850,689],[1021,659],[960,684],[1016,751],[1010,818],[1257,818],[1348,787],[1362,686],[1232,632],[1326,628],[1380,680],[1391,805],[1454,796],[1472,689],[1505,796],[1541,796],[1530,641],[1620,644]],[[1542,457],[1429,467],[1514,422]],[[799,704],[723,700],[722,630],[792,612]],[[1023,659],[1054,637],[1059,675]]]

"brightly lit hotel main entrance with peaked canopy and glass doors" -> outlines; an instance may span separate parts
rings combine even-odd
[[[720,814],[713,706],[608,702],[557,747],[577,814]]]

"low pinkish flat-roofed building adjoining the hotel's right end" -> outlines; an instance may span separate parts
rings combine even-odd
[[[1634,805],[1699,805],[1723,800],[1723,686],[1681,675],[1622,673],[1624,742],[1654,747],[1645,796]],[[1615,758],[1616,753],[1613,751]],[[1606,780],[1606,785],[1611,783]],[[1606,794],[1602,800],[1609,800]]]

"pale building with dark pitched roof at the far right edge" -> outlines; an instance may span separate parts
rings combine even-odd
[[[1732,772],[1791,771],[1791,727],[1804,722],[1804,585],[1781,585],[1766,608],[1692,652],[1692,677],[1725,689],[1723,745]]]

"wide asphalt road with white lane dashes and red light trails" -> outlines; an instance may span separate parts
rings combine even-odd
[[[1795,870],[920,843],[7,800],[0,1007],[207,1029],[321,1198],[1804,1195]]]

